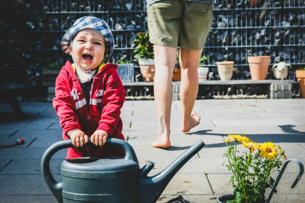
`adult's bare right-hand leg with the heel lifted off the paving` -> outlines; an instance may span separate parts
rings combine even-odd
[[[188,132],[199,124],[200,116],[193,112],[198,93],[198,64],[202,50],[180,48],[179,63],[181,68],[180,100],[182,103],[181,131]]]

